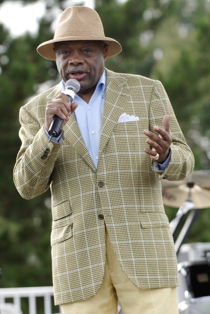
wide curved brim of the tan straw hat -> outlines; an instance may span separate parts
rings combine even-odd
[[[45,41],[42,44],[40,44],[37,47],[37,51],[42,57],[46,59],[56,60],[54,43],[60,42],[60,41],[75,41],[75,40],[104,41],[105,44],[109,46],[108,51],[107,51],[107,58],[113,57],[122,51],[122,47],[118,41],[109,37],[92,37],[92,36],[91,37],[90,36],[69,36],[69,37],[55,38],[55,39],[52,39],[50,41]]]

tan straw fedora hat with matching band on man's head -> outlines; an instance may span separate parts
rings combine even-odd
[[[101,19],[95,10],[83,6],[73,6],[63,11],[54,38],[40,44],[37,51],[46,59],[56,60],[54,43],[71,40],[102,40],[109,46],[107,57],[115,56],[122,50],[119,42],[105,37]]]

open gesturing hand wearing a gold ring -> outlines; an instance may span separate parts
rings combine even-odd
[[[150,155],[151,159],[153,161],[156,161],[158,163],[164,162],[169,155],[169,150],[172,142],[172,138],[170,137],[170,122],[169,122],[169,116],[165,115],[163,118],[163,128],[155,126],[154,131],[159,133],[159,135],[156,135],[149,130],[144,130],[144,134],[148,137],[146,140],[146,143],[148,143],[152,149],[144,149],[144,152],[148,155]],[[159,158],[154,160],[153,157],[155,157],[159,154]]]

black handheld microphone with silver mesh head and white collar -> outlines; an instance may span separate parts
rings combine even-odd
[[[65,88],[66,89],[64,91],[64,94],[68,95],[69,100],[72,103],[75,94],[80,90],[80,84],[76,79],[71,78],[66,82]],[[58,136],[58,133],[61,130],[62,124],[63,124],[63,119],[55,115],[48,131],[48,134],[50,135],[49,142],[51,141],[52,137]]]

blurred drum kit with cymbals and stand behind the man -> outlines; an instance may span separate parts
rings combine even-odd
[[[161,184],[164,205],[178,208],[175,218],[170,222],[170,228],[176,239],[175,249],[179,257],[181,246],[196,221],[199,211],[203,208],[210,208],[210,171],[193,171],[183,181],[162,180]],[[184,221],[184,216],[189,211]],[[191,245],[191,250],[193,247],[193,258],[186,258],[178,263],[179,314],[209,314],[210,243]],[[202,251],[202,254],[196,254],[198,250],[196,251],[195,247],[200,248],[199,252]]]

